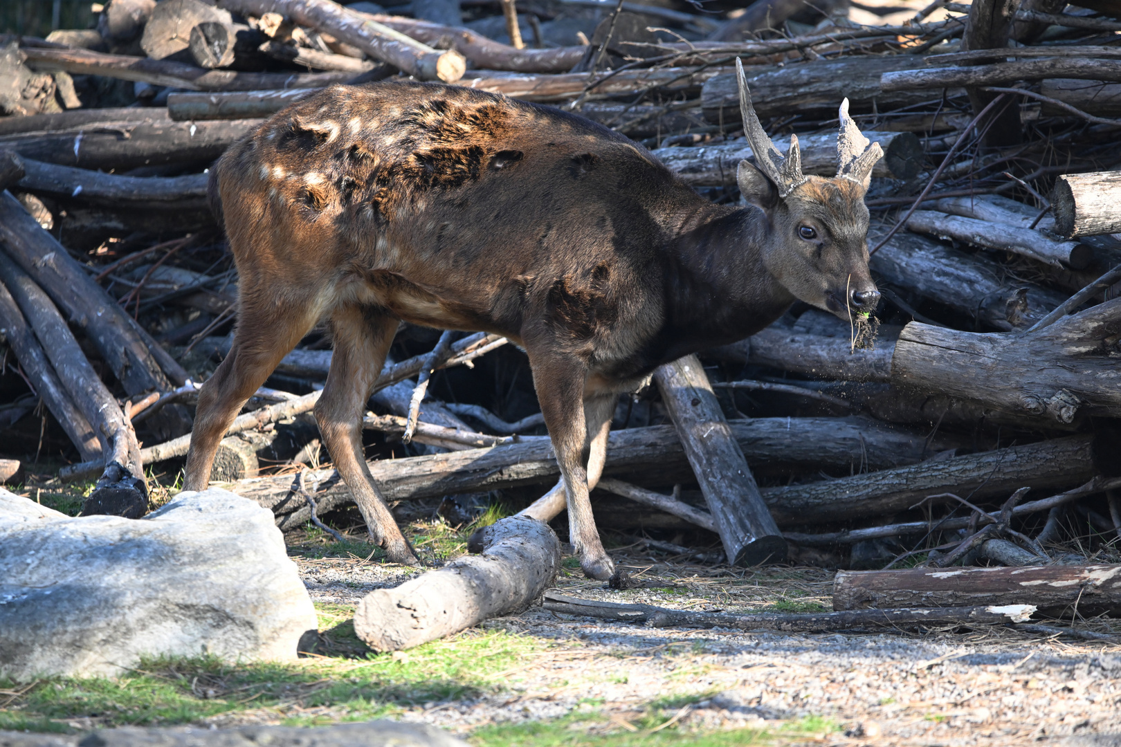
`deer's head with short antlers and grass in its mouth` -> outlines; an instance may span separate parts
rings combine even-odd
[[[739,59],[735,71],[743,132],[756,157],[754,166],[740,161],[738,179],[744,199],[762,208],[770,221],[763,248],[768,271],[796,298],[842,319],[872,311],[880,292],[868,271],[864,194],[872,167],[883,156],[880,143],[869,143],[861,133],[845,99],[836,176],[803,175],[797,136],[790,136],[790,149],[782,156],[759,123]]]

